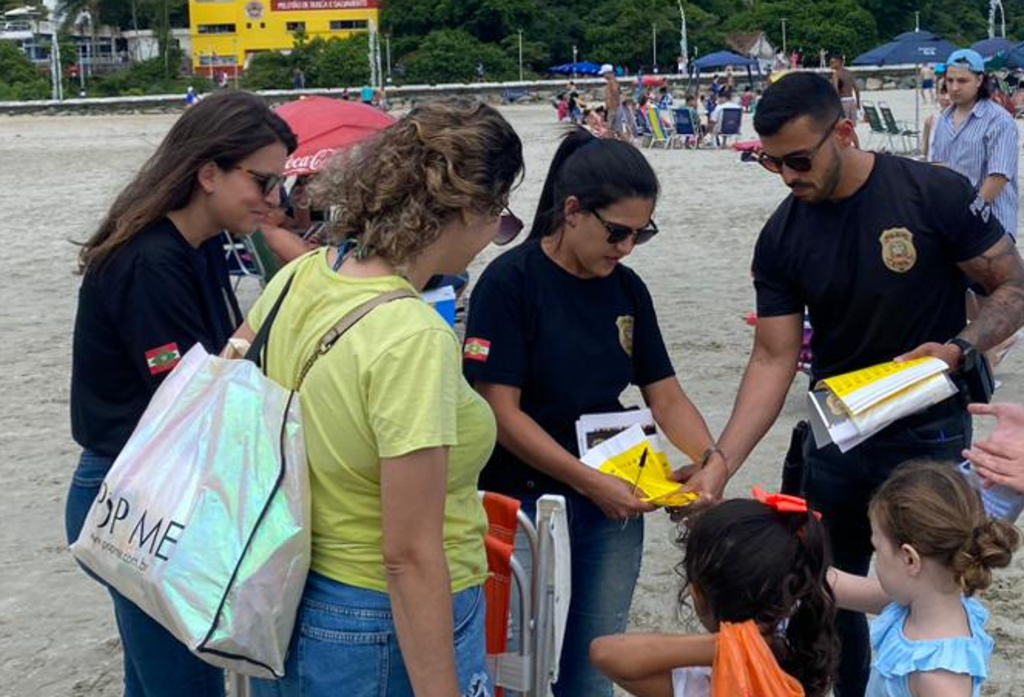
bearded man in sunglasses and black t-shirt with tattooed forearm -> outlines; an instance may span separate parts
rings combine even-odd
[[[723,459],[690,480],[713,495],[721,495],[781,410],[805,307],[814,326],[812,382],[899,356],[933,355],[958,369],[1024,324],[1020,255],[967,179],[857,149],[839,96],[812,74],[770,86],[754,126],[763,143],[760,162],[792,193],[755,249],[758,326],[718,442]],[[992,302],[965,326],[969,280],[982,284]],[[803,486],[828,528],[836,565],[867,573],[867,503],[893,468],[914,458],[958,462],[970,440],[971,417],[959,396],[896,422],[845,454],[835,445],[817,449],[808,439]],[[837,694],[862,695],[867,624],[863,615],[840,615]]]

